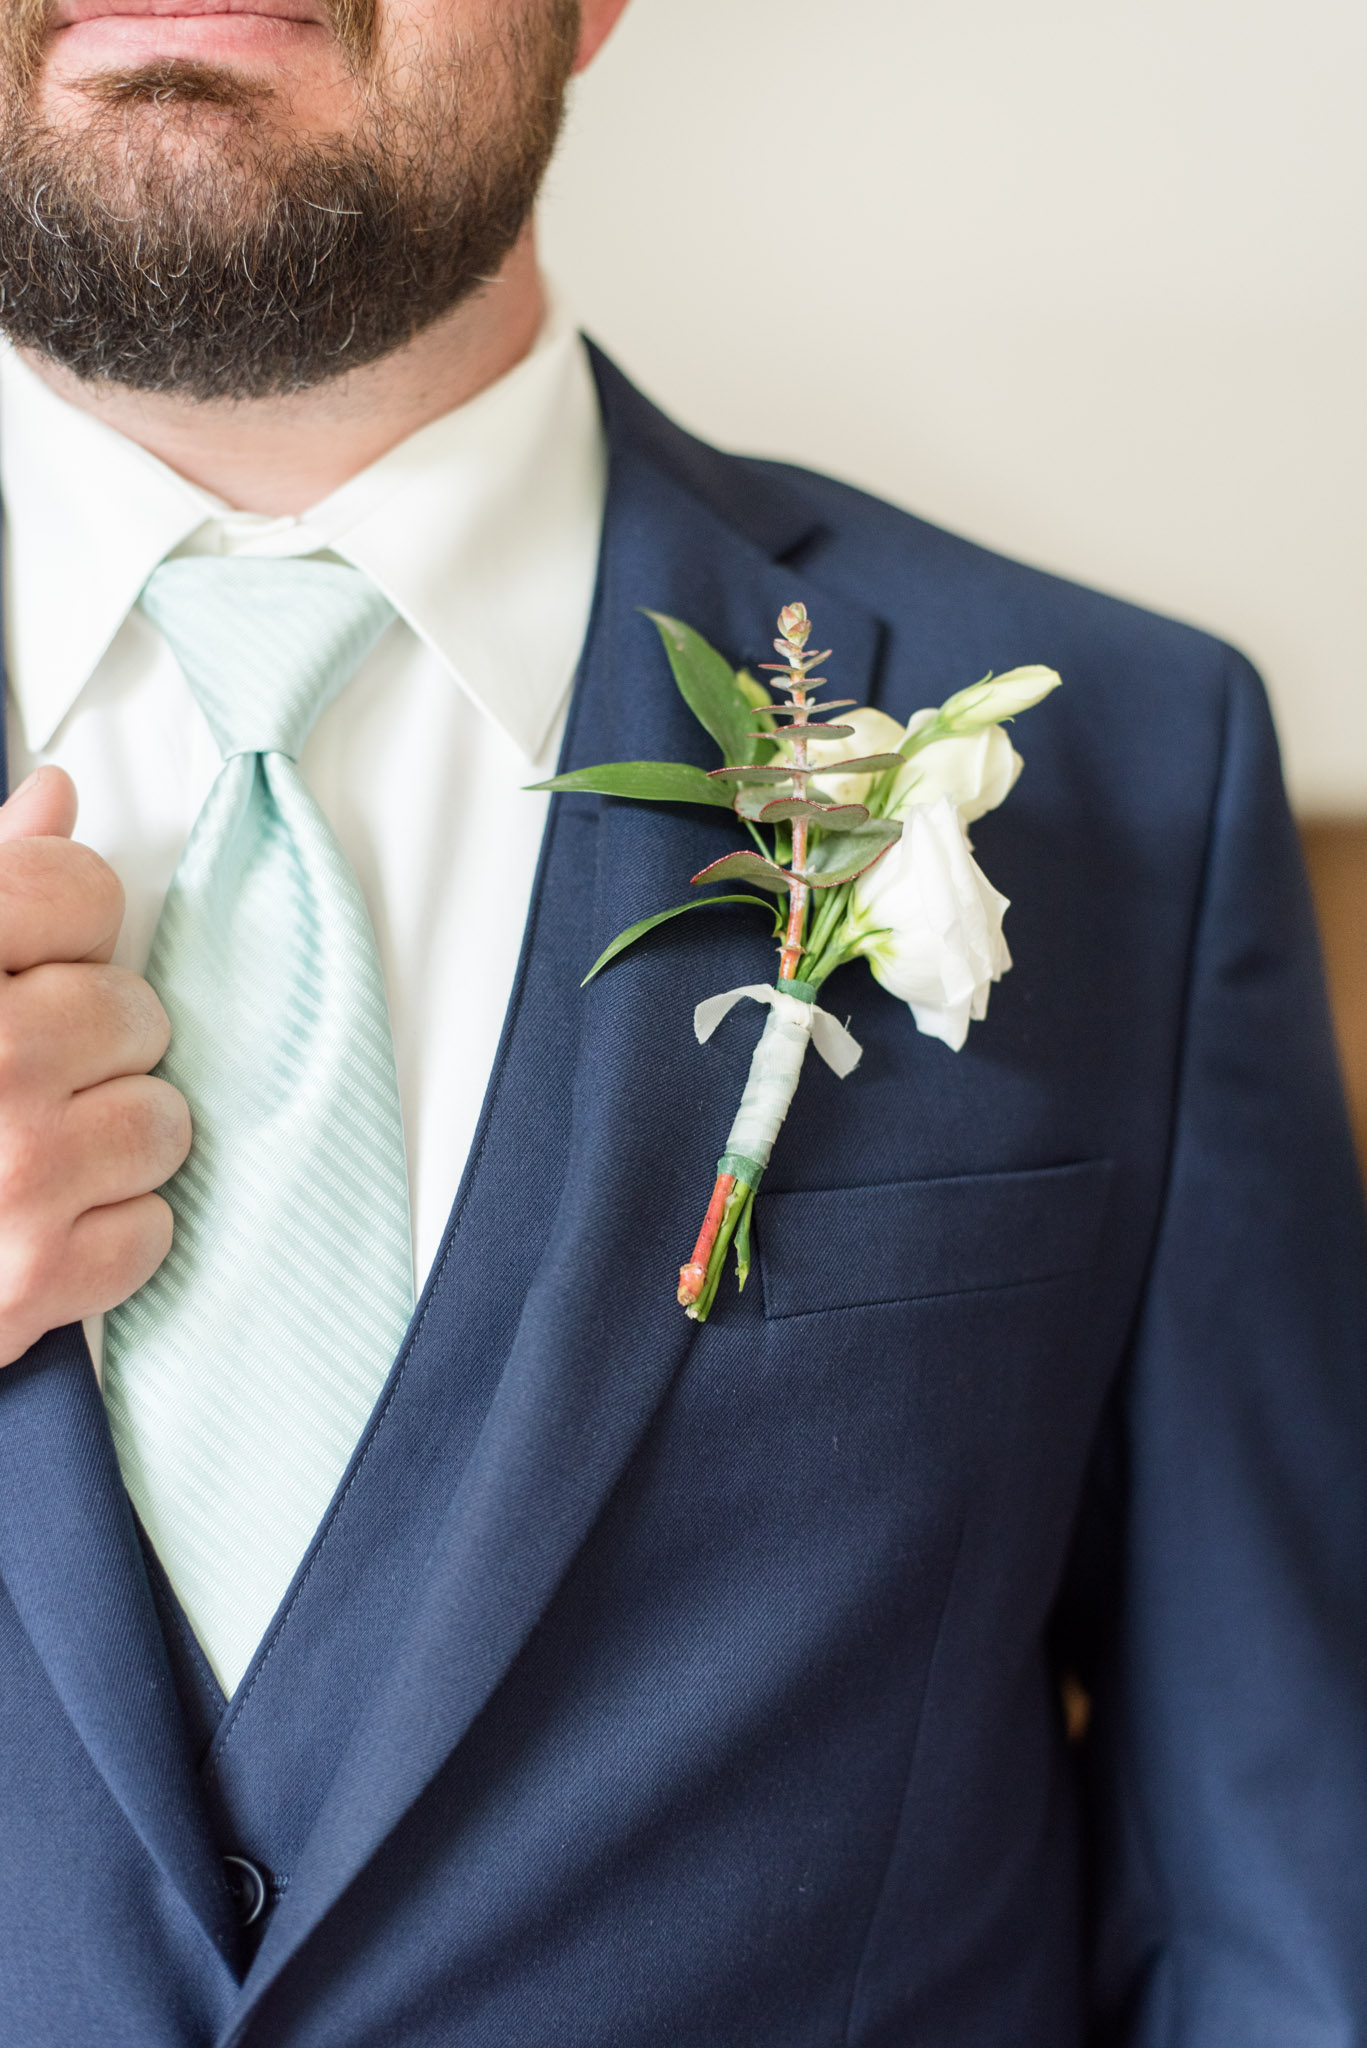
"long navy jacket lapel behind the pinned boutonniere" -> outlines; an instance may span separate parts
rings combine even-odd
[[[648,444],[629,408],[639,408],[648,428],[674,430],[615,373],[600,375],[609,508],[566,766],[633,758],[715,766],[641,606],[685,616],[734,659],[754,662],[767,659],[781,604],[805,596],[838,649],[836,674],[848,684],[840,694],[863,698],[877,621],[820,592],[805,571],[777,569],[767,547],[728,524],[680,479],[680,465]],[[586,969],[621,928],[685,901],[689,877],[734,844],[726,811],[605,801],[594,872],[560,872],[555,862],[570,856],[551,840],[541,905],[564,901],[568,887],[592,887]],[[519,1061],[560,1059],[572,1090],[572,1143],[555,1221],[478,1442],[420,1567],[389,1673],[336,1772],[225,2048],[490,1702],[695,1341],[697,1325],[674,1303],[676,1270],[697,1235],[738,1081],[719,1077],[717,1061],[695,1044],[693,1004],[771,973],[767,920],[726,909],[668,926],[586,991],[570,979],[564,989],[541,989],[535,1014],[519,1020],[494,1130],[480,1149],[500,1157],[500,1143],[519,1130]],[[535,1133],[523,1133],[514,1151],[523,1171],[535,1171],[529,1143]],[[465,1200],[498,1202],[500,1188],[486,1176]],[[459,1255],[441,1270],[443,1319],[459,1329],[463,1303],[496,1278],[471,1272]]]

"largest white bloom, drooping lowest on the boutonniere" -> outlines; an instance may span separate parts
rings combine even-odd
[[[912,805],[902,838],[851,893],[851,928],[865,934],[859,952],[875,979],[910,1006],[918,1030],[955,1053],[1010,967],[1004,913],[1006,897],[974,860],[949,797]]]

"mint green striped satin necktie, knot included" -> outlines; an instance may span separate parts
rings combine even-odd
[[[393,1040],[375,934],[295,760],[393,618],[357,569],[168,561],[141,608],[223,768],[152,944],[158,1073],[195,1145],[166,1264],[109,1315],[123,1479],[232,1692],[307,1550],[412,1315]]]

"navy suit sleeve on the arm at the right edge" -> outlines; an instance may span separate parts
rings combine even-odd
[[[1363,2048],[1367,1231],[1267,702],[1238,657],[1228,684],[1164,1210],[1078,1540],[1092,2040]]]

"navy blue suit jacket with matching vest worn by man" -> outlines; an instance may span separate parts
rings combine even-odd
[[[959,1055],[830,985],[863,1067],[810,1063],[697,1329],[758,1026],[691,1010],[769,928],[580,991],[736,834],[557,799],[445,1249],[227,1710],[80,1333],[0,1374],[0,2040],[1361,2048],[1367,1247],[1258,682],[598,377],[566,762],[711,766],[644,604],[762,659],[803,598],[898,717],[1047,662],[976,827],[1017,967]]]

